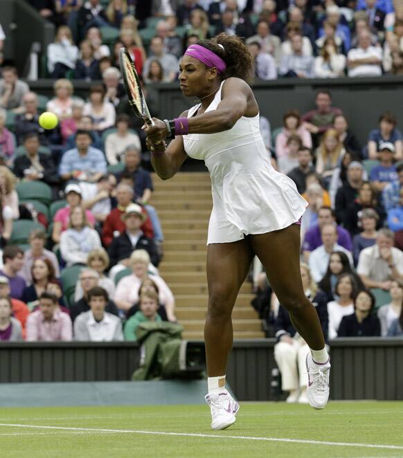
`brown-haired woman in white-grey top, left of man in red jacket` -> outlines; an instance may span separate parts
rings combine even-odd
[[[60,253],[67,266],[87,264],[88,253],[100,248],[98,232],[89,227],[85,210],[80,207],[71,209],[69,229],[60,236]]]

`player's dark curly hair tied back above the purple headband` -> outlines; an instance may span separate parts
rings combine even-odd
[[[211,40],[200,40],[197,44],[204,46],[224,60],[226,69],[220,74],[222,80],[233,76],[246,81],[248,84],[253,82],[253,75],[255,74],[253,56],[240,37],[220,33]],[[218,46],[219,44],[224,49]]]

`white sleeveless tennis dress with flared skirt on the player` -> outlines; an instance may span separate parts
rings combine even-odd
[[[221,83],[207,111],[221,102]],[[188,111],[188,118],[199,109]],[[242,116],[232,129],[183,136],[186,154],[202,159],[211,175],[213,210],[207,244],[222,244],[287,228],[305,212],[307,201],[291,178],[276,172],[260,135],[259,114]]]

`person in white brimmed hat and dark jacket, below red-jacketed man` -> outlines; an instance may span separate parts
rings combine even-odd
[[[126,230],[115,237],[109,246],[108,254],[111,259],[111,266],[119,263],[128,267],[130,264],[129,257],[133,251],[143,249],[150,255],[152,264],[158,267],[160,257],[156,245],[152,239],[145,237],[141,230],[141,225],[145,221],[141,206],[137,203],[127,205],[121,219],[125,222]]]

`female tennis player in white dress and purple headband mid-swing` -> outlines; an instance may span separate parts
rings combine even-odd
[[[239,409],[225,390],[225,374],[233,344],[231,313],[254,255],[311,349],[310,405],[322,409],[329,396],[329,356],[301,281],[299,221],[307,202],[290,178],[271,167],[260,135],[258,103],[247,84],[251,75],[253,58],[238,37],[222,33],[197,42],[181,59],[179,82],[184,95],[197,96],[201,103],[174,120],[154,118],[154,126],[143,126],[161,178],[172,178],[187,156],[204,160],[211,174],[204,339],[206,401],[215,430],[232,425]],[[174,138],[168,147],[165,138]]]

